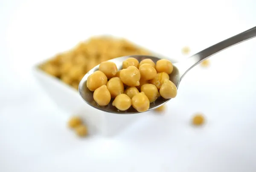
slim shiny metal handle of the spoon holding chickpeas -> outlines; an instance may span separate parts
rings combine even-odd
[[[236,44],[249,40],[253,37],[256,37],[256,27],[253,27],[247,31],[241,32],[240,34],[237,34],[233,37],[230,37],[226,40],[216,43],[215,45],[210,46],[207,49],[204,49],[201,52],[198,52],[197,54],[192,55],[184,62],[177,64],[177,68],[182,73],[182,75],[185,75],[186,72],[188,72],[198,63],[207,59],[208,57],[218,52],[221,52],[222,50],[227,49],[231,46],[234,46]]]

